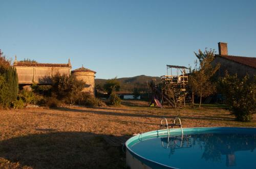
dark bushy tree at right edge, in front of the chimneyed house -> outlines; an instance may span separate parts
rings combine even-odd
[[[219,88],[236,120],[250,121],[252,114],[256,113],[256,76],[250,78],[246,75],[239,79],[237,74],[229,75],[226,72],[219,81]]]

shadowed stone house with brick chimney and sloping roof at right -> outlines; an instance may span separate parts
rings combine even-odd
[[[256,75],[256,58],[240,57],[228,55],[227,43],[219,42],[219,54],[215,55],[212,64],[221,64],[218,76],[223,77],[227,70],[229,74],[238,74],[239,78],[244,77],[246,74],[250,76]]]

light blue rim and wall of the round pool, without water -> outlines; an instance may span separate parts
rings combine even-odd
[[[196,127],[196,128],[183,128],[184,134],[197,134],[197,133],[253,133],[256,134],[256,128],[242,128],[242,127]],[[150,139],[155,136],[165,136],[167,134],[167,130],[156,130],[150,131],[146,133],[142,133],[136,136],[131,137],[125,143],[126,146],[126,165],[131,169],[151,169],[151,168],[175,168],[163,165],[156,161],[149,160],[145,157],[136,154],[131,150],[131,146],[142,142],[145,139]],[[170,135],[181,135],[181,129],[170,129]]]

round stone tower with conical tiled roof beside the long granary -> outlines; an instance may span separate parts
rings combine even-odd
[[[86,82],[86,85],[84,86],[82,92],[94,95],[95,94],[95,83],[94,83],[94,77],[95,77],[95,71],[84,68],[83,66],[81,68],[75,69],[71,71],[72,75],[74,75],[77,79],[83,80]]]

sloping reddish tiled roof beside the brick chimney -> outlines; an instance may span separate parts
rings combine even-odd
[[[253,67],[256,69],[256,58],[237,57],[237,56],[233,56],[233,55],[219,55],[219,54],[216,54],[216,56],[225,58],[225,59],[233,61],[233,62],[243,64],[243,65],[247,65],[247,66],[250,66],[250,67]]]

